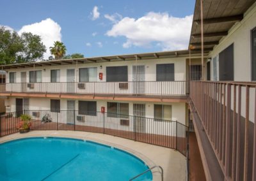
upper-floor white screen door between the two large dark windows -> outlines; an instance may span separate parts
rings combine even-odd
[[[145,94],[145,66],[132,66],[132,91]]]

